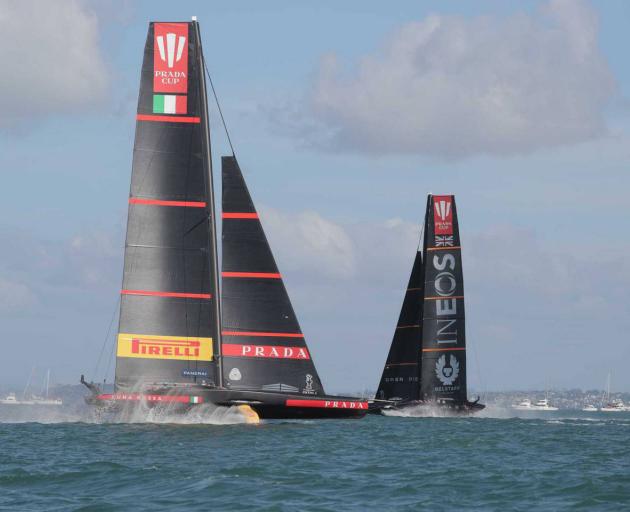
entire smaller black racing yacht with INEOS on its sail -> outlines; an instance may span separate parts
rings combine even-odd
[[[429,195],[394,338],[371,412],[409,408],[471,414],[466,383],[464,280],[455,197]]]

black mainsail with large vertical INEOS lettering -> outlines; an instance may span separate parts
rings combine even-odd
[[[467,400],[464,280],[454,196],[429,196],[424,239],[422,400]]]

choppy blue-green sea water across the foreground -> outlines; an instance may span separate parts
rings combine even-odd
[[[0,509],[630,510],[630,413],[525,414],[195,425],[0,409]]]

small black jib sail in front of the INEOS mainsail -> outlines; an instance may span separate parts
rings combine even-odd
[[[423,304],[422,252],[416,253],[376,398],[418,400]]]

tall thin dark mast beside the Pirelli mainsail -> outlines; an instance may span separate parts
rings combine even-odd
[[[217,364],[217,381],[219,387],[223,387],[223,358],[221,356],[221,293],[219,288],[219,259],[217,251],[217,223],[216,223],[216,209],[214,206],[214,179],[212,173],[212,149],[210,140],[210,119],[208,116],[208,96],[206,93],[206,73],[205,73],[205,60],[203,56],[203,48],[201,46],[201,33],[199,31],[199,23],[197,17],[192,17],[192,23],[195,27],[195,34],[197,40],[197,58],[199,60],[199,70],[201,73],[200,80],[200,96],[201,96],[201,112],[203,117],[202,130],[203,130],[203,142],[204,142],[204,162],[207,166],[207,186],[208,186],[208,213],[209,213],[209,227],[211,228],[210,234],[210,264],[213,268],[213,288],[216,290],[216,298],[214,300],[214,312],[217,322],[216,331],[216,364]]]

